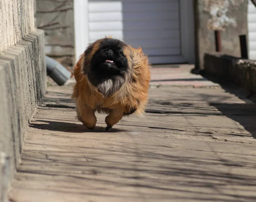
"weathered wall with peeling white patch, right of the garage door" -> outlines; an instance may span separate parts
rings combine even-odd
[[[240,57],[239,35],[247,34],[247,0],[195,0],[196,68],[215,51],[214,30],[221,31],[222,53]]]

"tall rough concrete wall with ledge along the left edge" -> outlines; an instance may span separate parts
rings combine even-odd
[[[0,0],[0,201],[21,153],[29,120],[46,89],[44,32],[34,0]]]

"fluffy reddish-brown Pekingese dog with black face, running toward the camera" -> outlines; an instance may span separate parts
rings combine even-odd
[[[108,114],[106,131],[123,116],[141,116],[148,101],[148,58],[139,47],[105,37],[90,44],[74,68],[78,119],[93,129],[95,111]]]

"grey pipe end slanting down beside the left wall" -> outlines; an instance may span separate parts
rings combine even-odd
[[[47,75],[58,85],[63,85],[71,77],[71,73],[60,63],[52,58],[45,56]]]

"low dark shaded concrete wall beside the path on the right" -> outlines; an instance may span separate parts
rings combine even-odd
[[[221,53],[204,55],[204,71],[256,93],[256,61]]]

